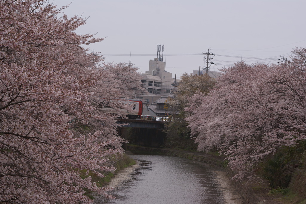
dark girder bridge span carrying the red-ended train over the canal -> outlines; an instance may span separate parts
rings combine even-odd
[[[139,128],[164,128],[164,124],[167,122],[154,121],[154,120],[132,120],[132,119],[116,119],[117,124],[123,124],[121,127],[139,127]]]

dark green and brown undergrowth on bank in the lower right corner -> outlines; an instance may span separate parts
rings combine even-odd
[[[268,195],[285,204],[306,204],[306,141],[281,147],[262,167],[270,183]]]

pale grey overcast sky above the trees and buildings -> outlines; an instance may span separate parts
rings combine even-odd
[[[50,0],[50,2],[52,2]],[[166,70],[177,78],[203,70],[203,59],[215,54],[210,69],[234,62],[277,63],[295,47],[306,47],[305,0],[54,0],[68,17],[82,15],[87,23],[76,32],[104,41],[88,48],[107,62],[129,62],[140,72],[165,46]],[[202,54],[204,53],[204,54]],[[162,55],[162,52],[161,52]],[[282,60],[281,60],[282,61]]]

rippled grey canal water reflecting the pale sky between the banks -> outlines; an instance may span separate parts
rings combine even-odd
[[[139,163],[132,174],[110,194],[116,204],[241,204],[226,199],[215,167],[170,156],[130,155]]]

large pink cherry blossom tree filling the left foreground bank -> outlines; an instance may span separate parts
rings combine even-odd
[[[83,188],[112,197],[79,175],[114,170],[122,139],[103,104],[120,108],[121,87],[81,46],[103,39],[74,33],[85,20],[62,9],[0,1],[0,203],[92,203]]]

